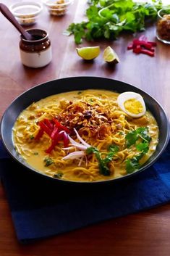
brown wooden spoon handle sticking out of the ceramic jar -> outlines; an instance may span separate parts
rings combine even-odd
[[[9,20],[14,25],[14,27],[20,31],[20,33],[26,40],[31,40],[31,35],[27,33],[24,28],[22,28],[22,26],[17,22],[14,15],[12,15],[12,12],[9,11],[8,7],[5,4],[0,3],[0,11],[4,15],[4,17],[6,17],[7,20]]]

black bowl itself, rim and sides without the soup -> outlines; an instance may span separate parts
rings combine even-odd
[[[118,80],[97,77],[75,77],[52,80],[43,83],[39,86],[30,88],[30,90],[25,91],[25,93],[18,96],[17,99],[15,99],[14,102],[12,102],[12,104],[4,112],[4,115],[1,120],[1,139],[9,154],[11,154],[11,156],[14,157],[14,159],[17,160],[17,162],[20,162],[26,168],[33,170],[35,173],[40,173],[38,170],[35,170],[33,167],[28,165],[27,162],[25,162],[25,160],[23,160],[22,157],[20,157],[20,155],[18,155],[16,150],[14,149],[14,144],[12,141],[12,128],[18,115],[20,115],[20,112],[22,112],[22,110],[25,110],[25,108],[28,107],[30,104],[32,104],[33,102],[37,102],[38,100],[43,99],[46,96],[59,94],[61,92],[66,91],[85,90],[90,88],[106,89],[110,91],[116,91],[119,93],[122,93],[124,91],[135,91],[136,93],[141,94],[145,101],[146,107],[156,118],[159,130],[161,131],[159,134],[159,142],[158,146],[156,147],[156,152],[154,152],[150,159],[147,162],[145,162],[145,164],[139,170],[137,170],[135,173],[128,174],[127,176],[112,179],[109,181],[117,181],[120,179],[127,178],[129,176],[133,176],[136,173],[140,173],[141,171],[146,170],[150,165],[153,165],[153,162],[158,160],[158,157],[161,156],[163,150],[166,149],[166,146],[169,142],[169,119],[166,116],[166,113],[164,112],[163,108],[158,102],[156,102],[156,99],[153,99],[150,95],[145,93],[145,91],[142,91],[139,88],[136,88],[135,86],[131,86],[127,83]],[[62,181],[57,178],[46,176],[46,174],[40,174],[41,176],[45,176],[56,181]],[[62,182],[84,183],[77,181]],[[93,183],[106,182],[108,181],[95,181]]]

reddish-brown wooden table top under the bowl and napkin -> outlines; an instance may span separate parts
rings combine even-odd
[[[4,4],[14,3],[6,0]],[[0,15],[0,115],[15,97],[27,88],[39,83],[77,75],[94,75],[114,78],[131,83],[147,91],[160,102],[170,116],[170,46],[158,42],[156,57],[135,55],[127,51],[131,35],[122,36],[117,41],[84,42],[82,46],[113,46],[121,62],[109,67],[103,62],[102,54],[94,62],[85,63],[77,56],[73,37],[62,35],[70,22],[78,22],[85,16],[86,0],[75,0],[64,17],[50,17],[46,8],[35,28],[48,30],[53,49],[50,65],[40,69],[24,67],[20,62],[20,35],[12,25]],[[155,41],[155,26],[145,31],[150,41]],[[149,195],[148,195],[149,197]],[[7,197],[0,186],[0,255],[64,255],[64,256],[169,256],[170,255],[170,205],[109,220],[88,228],[55,236],[35,244],[18,243]]]

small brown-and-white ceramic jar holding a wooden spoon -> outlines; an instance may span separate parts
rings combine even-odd
[[[48,38],[46,30],[29,29],[27,30],[33,36],[29,41],[21,36],[20,57],[22,64],[27,67],[44,67],[51,62],[51,41]]]

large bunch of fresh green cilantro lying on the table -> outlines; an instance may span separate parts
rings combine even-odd
[[[64,34],[74,34],[75,43],[81,44],[82,38],[88,41],[95,38],[116,39],[122,31],[145,30],[146,20],[156,20],[161,0],[148,3],[132,0],[90,0],[86,10],[88,21],[72,23]]]

